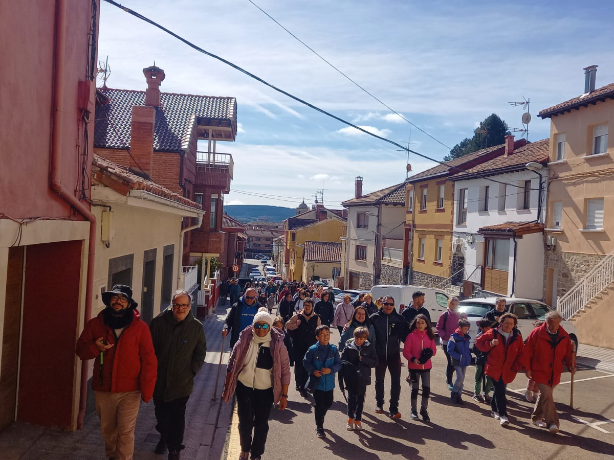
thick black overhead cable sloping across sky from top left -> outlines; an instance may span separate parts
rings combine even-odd
[[[256,80],[257,82],[260,82],[263,85],[266,85],[269,88],[272,88],[273,90],[278,91],[278,93],[284,94],[284,96],[287,96],[290,99],[293,99],[293,100],[295,100],[297,102],[300,102],[300,104],[306,105],[307,107],[309,107],[309,108],[311,108],[313,110],[316,110],[316,112],[320,112],[320,113],[322,113],[324,115],[327,115],[327,117],[333,118],[334,120],[337,120],[340,123],[343,123],[344,125],[348,125],[348,126],[351,126],[352,128],[358,129],[359,131],[364,132],[365,134],[368,134],[368,136],[375,137],[376,139],[379,139],[379,140],[383,140],[384,142],[387,142],[388,144],[392,144],[395,147],[398,147],[398,148],[400,148],[403,151],[408,151],[408,152],[413,153],[414,155],[419,156],[421,158],[428,159],[429,161],[433,161],[434,163],[438,163],[438,164],[441,164],[443,166],[449,167],[450,168],[450,172],[466,172],[467,174],[471,174],[473,177],[481,177],[481,178],[483,178],[485,180],[489,180],[490,182],[502,183],[502,184],[510,185],[510,186],[513,186],[513,187],[516,187],[516,188],[524,188],[523,186],[516,185],[515,183],[502,182],[502,181],[495,180],[495,179],[492,179],[490,177],[486,177],[485,175],[481,175],[481,174],[478,174],[478,173],[470,173],[470,172],[466,171],[465,169],[462,169],[462,168],[457,167],[457,166],[450,166],[449,164],[446,164],[444,161],[440,161],[438,159],[430,158],[430,156],[423,155],[422,153],[418,153],[415,150],[410,150],[410,148],[405,147],[402,144],[398,144],[397,142],[394,142],[394,140],[386,139],[386,137],[382,137],[382,136],[378,136],[377,134],[373,134],[373,132],[369,132],[366,129],[360,128],[360,126],[354,125],[354,123],[351,123],[348,120],[344,120],[343,118],[337,117],[336,115],[333,115],[333,113],[327,112],[326,110],[321,109],[320,107],[317,107],[316,105],[313,105],[313,104],[311,104],[311,103],[309,103],[309,102],[307,102],[307,101],[305,101],[305,100],[303,100],[301,98],[298,98],[297,96],[294,96],[293,94],[288,93],[287,91],[282,90],[281,88],[278,88],[277,86],[273,85],[272,83],[266,82],[266,80],[263,80],[260,77],[258,77],[257,75],[254,75],[251,72],[246,71],[245,69],[243,69],[243,67],[239,67],[236,64],[231,63],[227,59],[224,59],[224,58],[222,58],[220,56],[214,55],[213,53],[210,53],[210,52],[204,50],[203,48],[199,47],[198,45],[195,45],[192,42],[188,41],[187,39],[184,39],[183,37],[177,35],[173,31],[170,31],[169,29],[165,28],[164,26],[161,26],[157,22],[155,22],[155,21],[153,21],[153,20],[143,16],[141,13],[138,13],[138,12],[136,12],[134,10],[131,10],[128,7],[122,6],[121,4],[115,2],[114,0],[104,0],[104,1],[106,1],[107,3],[112,4],[113,6],[118,7],[119,9],[124,10],[126,13],[129,13],[129,14],[133,15],[134,17],[139,18],[142,21],[145,21],[145,22],[151,24],[154,27],[157,27],[158,29],[160,29],[162,31],[165,31],[167,34],[175,37],[177,40],[179,40],[181,42],[184,42],[186,45],[188,45],[188,47],[194,48],[196,51],[198,51],[200,53],[203,53],[204,55],[207,55],[207,56],[209,56],[211,58],[217,59],[218,61],[220,61],[220,62],[222,62],[224,64],[227,64],[228,66],[232,67],[233,69],[236,69],[237,71],[239,71],[239,72],[241,72],[243,74],[246,74],[248,77],[251,77],[252,79]],[[537,189],[531,189],[531,190],[537,190]]]

